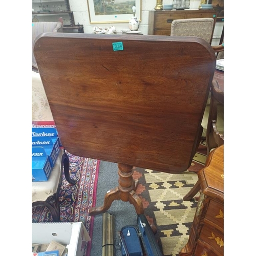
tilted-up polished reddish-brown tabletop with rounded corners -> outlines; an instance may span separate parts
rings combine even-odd
[[[44,33],[34,55],[68,152],[166,173],[190,166],[216,66],[203,39]]]

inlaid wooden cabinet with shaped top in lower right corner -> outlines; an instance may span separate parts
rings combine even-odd
[[[224,255],[224,145],[212,151],[198,173],[201,186],[188,242],[179,256]]]

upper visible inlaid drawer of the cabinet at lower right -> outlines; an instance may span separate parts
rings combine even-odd
[[[214,200],[209,201],[205,222],[210,221],[223,231],[224,228],[224,206]]]

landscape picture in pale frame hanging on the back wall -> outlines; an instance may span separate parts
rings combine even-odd
[[[141,21],[141,0],[87,0],[90,24],[124,23],[135,16]]]

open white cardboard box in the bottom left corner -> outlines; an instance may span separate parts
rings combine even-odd
[[[91,238],[82,222],[32,223],[32,243],[67,245],[68,256],[83,256],[86,241]]]

